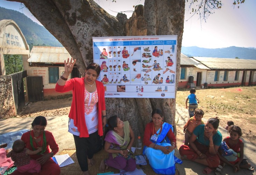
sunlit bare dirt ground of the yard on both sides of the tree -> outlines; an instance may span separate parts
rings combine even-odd
[[[243,132],[242,139],[245,143],[245,157],[250,160],[254,167],[256,167],[256,130],[254,129],[256,124],[256,98],[255,95],[250,96],[250,93],[256,94],[256,90],[255,87],[251,87],[247,90],[244,90],[248,92],[250,91],[249,94],[247,94],[248,92],[244,92],[246,93],[245,95],[239,93],[239,95],[235,95],[236,98],[232,96],[232,94],[236,94],[236,92],[232,91],[236,90],[198,89],[196,94],[200,99],[199,108],[202,108],[205,112],[202,120],[206,122],[209,118],[218,116],[220,118],[219,130],[222,133],[223,138],[228,136],[227,131],[224,129],[226,127],[227,121],[232,120],[236,125],[239,125]],[[176,137],[178,148],[180,147],[180,145],[184,144],[183,126],[189,119],[188,111],[185,108],[185,100],[188,94],[189,91],[187,90],[177,92]],[[233,99],[230,100],[230,98],[239,98],[239,100],[236,100],[234,105],[234,103],[232,103]],[[72,97],[67,95],[67,97],[64,98],[62,97],[59,99],[30,103],[17,117],[0,120],[0,134],[21,129],[30,129],[31,122],[33,121],[34,117],[38,115],[43,115],[47,117],[48,125],[46,129],[53,133],[56,142],[58,143],[60,148],[59,152],[61,152],[62,150],[73,150],[75,149],[73,137],[67,132],[67,115],[70,110],[71,101]],[[220,109],[218,108],[218,104],[221,104]],[[244,110],[239,109],[241,108],[241,106],[239,106],[240,104],[246,106],[243,108]],[[230,108],[230,106],[236,106],[236,109],[228,109]],[[233,113],[231,112],[232,110]],[[178,150],[176,150],[175,154],[178,158],[180,157]],[[205,168],[205,166],[187,160],[184,160],[184,163],[182,165],[176,164],[176,167],[180,175],[202,174],[202,169]],[[223,168],[222,174],[234,174],[232,167],[226,166],[225,168]],[[255,174],[255,172],[243,169],[240,172],[236,173],[236,175],[244,174],[253,175]]]

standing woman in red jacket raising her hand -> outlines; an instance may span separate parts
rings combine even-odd
[[[106,124],[105,89],[96,79],[100,75],[100,66],[91,63],[86,67],[85,77],[72,78],[67,81],[76,60],[64,61],[65,71],[59,78],[55,90],[71,91],[73,99],[69,113],[69,132],[73,134],[79,166],[84,174],[94,165],[93,154],[102,148],[100,136],[102,125]]]

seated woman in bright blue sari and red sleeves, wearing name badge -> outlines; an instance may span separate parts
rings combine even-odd
[[[149,164],[157,174],[175,174],[174,152],[176,138],[172,125],[163,122],[160,109],[152,111],[152,122],[145,127],[143,154],[147,156]]]

